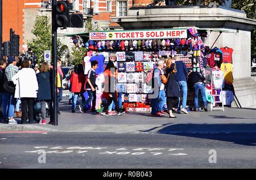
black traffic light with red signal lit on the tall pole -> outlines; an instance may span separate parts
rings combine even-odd
[[[53,8],[55,14],[55,25],[57,27],[69,27],[69,3],[68,1],[57,1]]]

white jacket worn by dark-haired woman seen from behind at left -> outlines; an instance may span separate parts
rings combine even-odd
[[[15,98],[37,97],[38,80],[32,68],[22,68],[11,80],[16,84]]]

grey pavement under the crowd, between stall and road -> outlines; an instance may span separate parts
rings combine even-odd
[[[71,113],[67,97],[60,104],[59,126],[0,124],[0,131],[46,132],[256,132],[256,109],[227,108],[222,112],[189,112],[176,114],[177,118],[152,117],[150,112],[128,112],[121,116],[92,115],[89,112]],[[47,119],[47,122],[49,119]]]

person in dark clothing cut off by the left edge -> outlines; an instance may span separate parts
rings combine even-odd
[[[6,61],[1,59],[0,60],[0,106],[1,110],[3,109],[3,101],[2,96],[5,92],[3,89],[3,83],[5,83],[5,68],[6,68]],[[5,123],[5,118],[3,117],[3,112],[0,112],[0,122]]]

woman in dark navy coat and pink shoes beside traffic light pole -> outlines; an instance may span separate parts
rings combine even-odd
[[[46,125],[46,104],[52,99],[49,66],[47,62],[43,62],[36,74],[38,80],[38,101],[41,102],[42,119],[40,125]],[[38,103],[38,102],[37,102]]]

